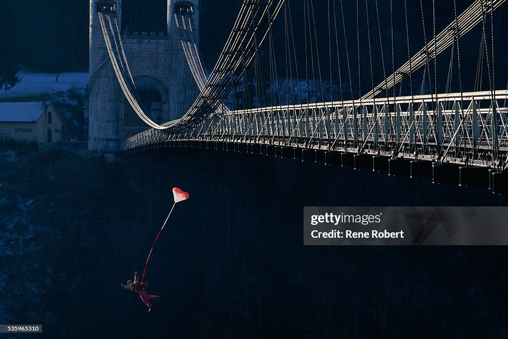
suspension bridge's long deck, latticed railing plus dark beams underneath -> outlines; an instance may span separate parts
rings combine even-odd
[[[436,183],[490,184],[502,193],[508,191],[508,174],[498,173],[508,158],[506,99],[508,91],[500,90],[495,101],[485,91],[235,110],[211,114],[185,132],[147,130],[126,139],[123,150],[183,146],[262,153],[433,176]]]

